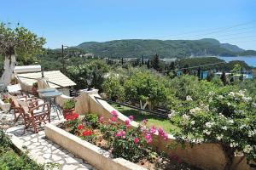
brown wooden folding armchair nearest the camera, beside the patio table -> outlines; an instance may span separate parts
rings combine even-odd
[[[33,132],[38,133],[38,128],[41,126],[42,122],[45,124],[50,122],[50,109],[49,103],[44,103],[41,105],[37,105],[33,108],[29,108],[28,106],[20,105],[20,113],[23,114],[24,122],[25,122],[25,130],[28,127],[33,127]]]

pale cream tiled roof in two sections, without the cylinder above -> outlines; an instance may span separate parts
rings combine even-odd
[[[26,82],[28,85],[32,85],[33,82],[37,82],[34,79],[42,77],[42,73],[32,72],[32,73],[18,74],[17,76],[19,77],[21,82]],[[28,79],[24,77],[29,77],[34,79]],[[60,86],[57,86],[55,84],[59,84],[62,87],[70,87],[70,86],[76,85],[75,82],[73,82],[64,74],[62,74],[61,71],[44,71],[44,77],[48,78],[49,80],[49,88],[61,88]],[[55,84],[50,82],[54,82]]]

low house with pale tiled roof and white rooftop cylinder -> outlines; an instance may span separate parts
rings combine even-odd
[[[14,77],[20,82],[24,82],[30,86],[37,79],[42,77],[41,65],[16,66]],[[66,77],[61,71],[44,71],[44,77],[48,79],[49,88],[57,88],[63,94],[69,96],[69,88],[76,85],[75,82]]]

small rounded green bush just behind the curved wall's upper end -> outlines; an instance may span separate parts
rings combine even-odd
[[[125,88],[120,84],[118,76],[109,76],[102,84],[103,92],[112,100],[123,100],[125,97]]]

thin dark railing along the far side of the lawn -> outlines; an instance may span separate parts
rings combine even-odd
[[[112,100],[108,100],[108,99],[102,99],[102,98],[99,98],[99,97],[96,97],[95,96],[95,99],[98,100],[103,100],[103,101],[107,101],[108,103],[110,104],[117,104],[117,105],[123,105],[125,107],[130,107],[132,109],[135,109],[137,111],[144,111],[144,112],[147,112],[149,114],[152,114],[154,116],[160,116],[160,117],[163,117],[163,118],[167,118],[168,117],[168,112],[160,112],[160,111],[150,111],[150,110],[145,110],[145,109],[142,109],[142,108],[139,108],[135,105],[128,105],[128,104],[123,104],[123,103],[120,103],[120,102],[117,102],[117,101],[112,101]]]

